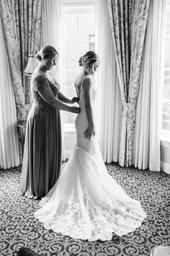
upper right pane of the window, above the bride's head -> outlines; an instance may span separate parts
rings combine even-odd
[[[91,37],[93,35],[93,37]],[[95,17],[94,13],[79,14],[79,40],[94,40]]]

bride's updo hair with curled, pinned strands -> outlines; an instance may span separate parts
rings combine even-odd
[[[95,61],[99,61],[99,56],[94,51],[87,51],[86,54],[80,57],[79,66],[89,67]]]

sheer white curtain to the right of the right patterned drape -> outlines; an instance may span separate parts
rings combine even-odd
[[[160,171],[161,129],[161,33],[164,0],[151,0],[138,105],[133,164]]]

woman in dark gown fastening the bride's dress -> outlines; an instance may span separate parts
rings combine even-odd
[[[61,117],[60,109],[79,113],[75,103],[60,92],[60,85],[48,74],[58,60],[53,46],[43,47],[37,54],[40,61],[32,74],[32,108],[27,116],[27,128],[22,163],[22,195],[40,198],[58,179],[61,169]]]

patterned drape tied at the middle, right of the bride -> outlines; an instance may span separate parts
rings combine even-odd
[[[108,0],[122,98],[119,163],[133,164],[135,110],[150,0]]]

